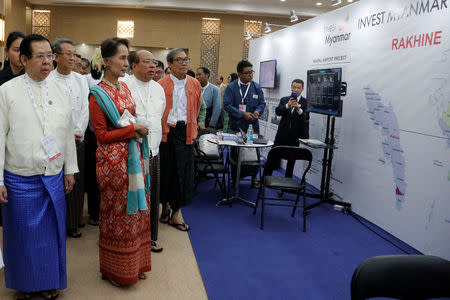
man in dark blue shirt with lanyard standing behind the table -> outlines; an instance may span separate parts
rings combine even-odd
[[[238,132],[239,128],[247,131],[250,124],[253,126],[255,133],[259,134],[258,118],[263,114],[266,103],[264,101],[264,93],[253,79],[253,65],[242,60],[237,65],[238,80],[231,82],[223,95],[223,106],[230,116],[229,132]],[[237,154],[232,151],[232,157],[237,158]],[[252,173],[253,187],[259,187],[258,181],[255,180],[256,174]],[[235,172],[232,172],[233,178]],[[245,176],[245,168],[241,172],[241,177]]]

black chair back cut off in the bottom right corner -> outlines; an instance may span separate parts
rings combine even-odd
[[[430,255],[388,255],[366,259],[353,273],[351,299],[450,297],[450,262]]]

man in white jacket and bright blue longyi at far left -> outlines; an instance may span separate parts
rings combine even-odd
[[[32,34],[20,45],[25,75],[0,87],[0,202],[6,287],[56,297],[67,287],[66,202],[78,172],[71,100],[48,80],[54,55]]]

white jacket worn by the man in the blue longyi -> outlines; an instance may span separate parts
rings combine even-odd
[[[42,145],[45,135],[54,138],[61,152],[54,160]],[[48,78],[36,82],[27,74],[0,86],[0,185],[3,170],[20,176],[49,176],[63,167],[64,174],[78,172],[71,100],[66,89]]]

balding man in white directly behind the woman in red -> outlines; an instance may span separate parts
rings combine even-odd
[[[123,79],[131,91],[136,102],[138,118],[147,123],[149,135],[148,144],[151,151],[150,178],[151,178],[151,235],[152,251],[161,252],[162,247],[157,244],[159,219],[159,193],[160,193],[160,158],[159,144],[162,137],[161,119],[166,107],[166,96],[163,88],[155,82],[155,58],[146,50],[139,50],[129,56],[133,75]]]

